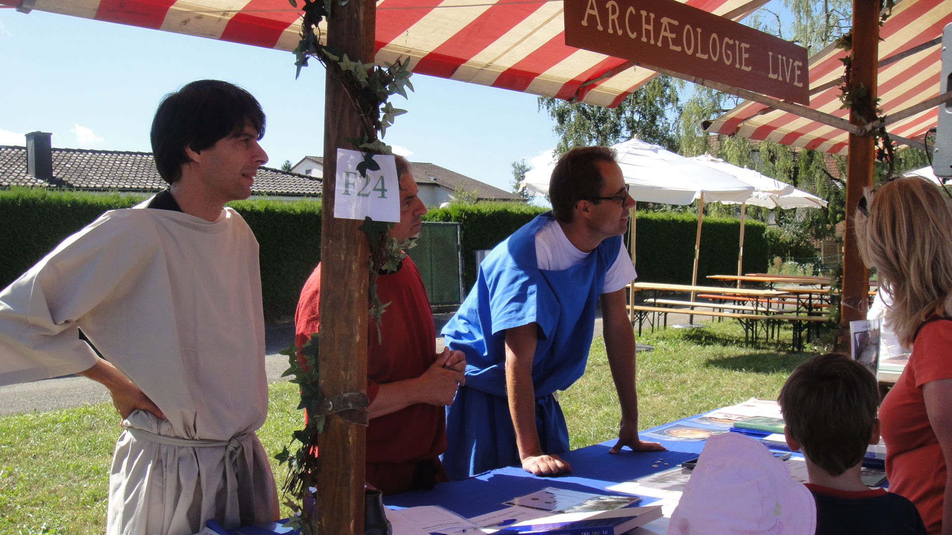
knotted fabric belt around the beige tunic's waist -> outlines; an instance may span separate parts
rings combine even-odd
[[[242,440],[253,436],[253,432],[242,432],[228,440],[183,439],[159,435],[137,427],[126,427],[129,434],[138,441],[154,442],[167,446],[183,447],[227,447],[225,462],[225,490],[228,496],[237,496],[238,503],[228,500],[225,504],[226,522],[238,521],[240,525],[251,525],[255,522],[254,514],[254,484],[251,480],[251,467],[248,458],[244,455],[245,446]],[[237,472],[237,473],[236,473]],[[237,506],[237,511],[235,507]]]

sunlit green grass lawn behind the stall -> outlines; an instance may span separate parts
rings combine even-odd
[[[781,341],[743,345],[734,322],[668,328],[639,339],[640,427],[670,422],[750,397],[775,399],[794,367],[816,354]],[[269,386],[268,421],[258,436],[269,455],[300,424],[296,389]],[[619,409],[602,339],[592,344],[585,376],[561,398],[572,447],[614,438]],[[109,463],[121,429],[110,404],[0,418],[0,533],[101,534],[106,525]],[[285,468],[272,463],[280,486]],[[287,510],[283,509],[284,513]]]

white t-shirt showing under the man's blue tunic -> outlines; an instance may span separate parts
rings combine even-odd
[[[585,258],[591,254],[583,252],[572,245],[565,236],[565,230],[559,225],[559,222],[552,219],[545,223],[542,228],[536,232],[536,263],[540,269],[547,271],[561,271],[563,269],[577,266],[585,261]],[[638,273],[631,264],[631,257],[625,249],[625,242],[618,250],[618,257],[615,262],[605,272],[605,285],[602,287],[602,293],[611,293],[627,286],[628,283],[635,280]]]

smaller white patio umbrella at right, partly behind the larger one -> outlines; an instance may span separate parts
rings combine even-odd
[[[754,169],[742,168],[733,164],[728,164],[720,158],[715,158],[710,154],[694,156],[691,160],[701,162],[705,166],[716,168],[728,173],[738,180],[756,188],[754,194],[741,203],[741,246],[737,258],[737,275],[744,273],[744,219],[747,214],[747,205],[764,208],[823,208],[826,201],[803,191],[794,188],[789,184],[783,183],[777,179],[770,178]],[[733,201],[724,201],[724,204],[733,204]],[[741,281],[737,281],[737,287],[741,287]]]

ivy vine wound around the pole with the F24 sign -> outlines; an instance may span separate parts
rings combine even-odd
[[[335,50],[325,45],[318,25],[322,21],[332,20],[335,2],[338,6],[346,6],[347,1],[303,0],[301,10],[304,12],[304,18],[301,24],[301,40],[294,50],[294,65],[297,67],[295,78],[301,74],[302,68],[307,67],[308,60],[313,58],[327,69],[328,75],[333,76],[346,89],[350,104],[360,118],[363,130],[359,138],[347,139],[347,143],[351,144],[353,149],[365,152],[366,156],[357,165],[357,170],[366,177],[368,170],[380,169],[377,162],[373,160],[375,154],[392,154],[392,150],[382,141],[382,138],[387,133],[387,128],[393,125],[394,118],[407,112],[405,109],[394,108],[388,102],[389,98],[394,94],[407,98],[407,89],[413,90],[413,85],[409,81],[411,73],[408,58],[380,67],[353,61],[342,50]],[[297,0],[288,0],[288,2],[292,7],[298,7]],[[389,304],[381,303],[377,295],[377,275],[395,270],[407,256],[404,249],[413,246],[412,240],[397,243],[388,232],[392,227],[392,223],[373,221],[369,217],[360,227],[367,234],[370,248],[370,259],[367,264],[368,309],[370,319],[377,327],[378,339],[381,336],[380,322]],[[288,446],[294,451],[291,452],[288,446],[285,446],[275,455],[275,459],[281,464],[288,464],[288,477],[283,488],[284,503],[295,513],[288,522],[288,526],[300,529],[305,535],[312,535],[317,530],[316,511],[304,503],[310,496],[309,489],[316,486],[317,436],[324,429],[328,411],[334,411],[330,407],[333,404],[329,403],[330,400],[326,400],[327,396],[318,386],[317,333],[312,334],[310,340],[302,347],[292,343],[281,353],[288,356],[289,365],[282,376],[291,376],[290,382],[300,388],[301,403],[298,409],[306,411],[307,422],[303,429],[295,430],[291,435]],[[347,395],[342,394],[342,396]],[[335,396],[335,401],[340,397]],[[360,403],[357,402],[354,408],[363,413],[360,415],[363,421],[360,417],[348,418],[344,413],[340,413],[339,417],[367,425],[367,413],[363,410],[367,406],[366,395],[363,395],[363,405]]]

